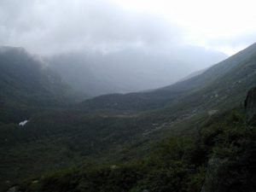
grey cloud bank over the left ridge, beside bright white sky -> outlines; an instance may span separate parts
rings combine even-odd
[[[0,44],[23,46],[39,54],[159,49],[180,44],[183,34],[155,15],[127,12],[101,0],[2,0],[0,8]]]

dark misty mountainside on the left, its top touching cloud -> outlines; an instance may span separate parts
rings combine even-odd
[[[22,48],[0,47],[0,121],[29,118],[35,108],[71,102],[72,89],[40,57]]]

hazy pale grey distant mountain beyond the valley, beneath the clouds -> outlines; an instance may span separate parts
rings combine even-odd
[[[151,90],[226,58],[213,50],[188,46],[160,51],[123,49],[110,53],[77,51],[53,55],[49,66],[74,89],[90,96]]]

